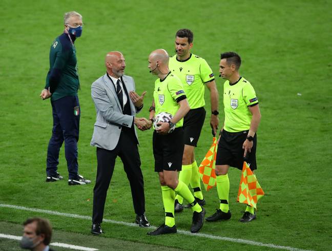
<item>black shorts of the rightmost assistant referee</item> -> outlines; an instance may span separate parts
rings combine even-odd
[[[218,151],[216,156],[216,165],[230,165],[234,168],[242,170],[243,167],[243,154],[242,149],[243,142],[248,135],[248,131],[242,131],[238,133],[230,133],[222,130],[222,134],[218,144]],[[251,149],[251,153],[248,153],[246,162],[250,164],[251,170],[257,169],[256,164],[256,146],[257,136],[254,137],[254,145]]]

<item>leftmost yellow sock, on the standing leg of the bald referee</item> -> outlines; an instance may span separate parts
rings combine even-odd
[[[161,194],[162,194],[162,202],[165,208],[165,225],[172,227],[175,225],[175,219],[174,219],[175,192],[167,185],[162,185]]]

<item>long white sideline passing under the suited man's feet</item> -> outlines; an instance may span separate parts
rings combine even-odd
[[[61,213],[61,212],[57,212],[57,211],[42,210],[42,209],[38,209],[38,208],[30,208],[30,207],[25,207],[25,206],[0,204],[0,207],[7,207],[7,208],[13,208],[16,210],[24,210],[24,211],[43,213],[43,214],[49,214],[49,215],[58,215],[58,216],[76,218],[76,219],[85,219],[85,220],[90,220],[90,221],[92,220],[90,216],[67,214],[67,213]],[[113,224],[138,227],[138,225],[135,223],[129,223],[129,222],[124,222],[124,221],[115,221],[115,220],[108,220],[108,219],[103,219],[102,221],[110,222]],[[156,227],[150,226],[149,228],[156,228]],[[263,243],[263,242],[245,240],[245,239],[229,238],[229,237],[222,237],[222,236],[209,235],[209,234],[200,234],[200,233],[193,234],[193,233],[190,233],[188,231],[183,231],[183,230],[178,230],[177,233],[182,234],[182,235],[188,235],[188,236],[203,237],[203,238],[208,238],[208,239],[213,239],[213,240],[230,241],[230,242],[242,243],[242,244],[247,244],[247,245],[265,246],[265,247],[284,249],[284,250],[290,250],[290,251],[309,251],[308,249],[300,249],[300,248],[290,247],[290,246],[280,246],[280,245],[275,245],[272,243]]]

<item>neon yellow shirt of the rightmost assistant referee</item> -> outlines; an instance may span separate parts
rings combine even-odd
[[[227,132],[242,132],[250,129],[253,115],[248,107],[258,104],[255,90],[251,83],[243,77],[230,85],[224,82],[223,103],[225,111],[224,130]]]

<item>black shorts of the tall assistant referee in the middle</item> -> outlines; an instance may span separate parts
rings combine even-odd
[[[197,147],[205,119],[205,109],[200,107],[191,109],[183,118],[184,144]]]

